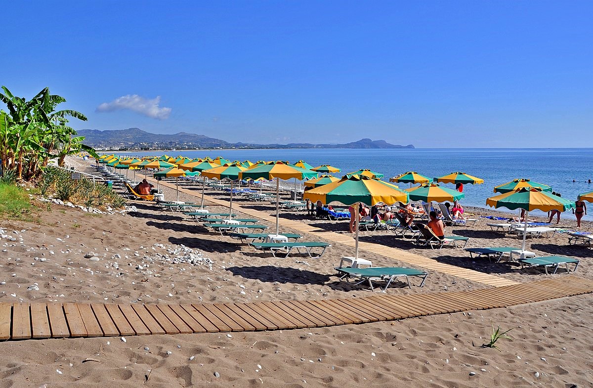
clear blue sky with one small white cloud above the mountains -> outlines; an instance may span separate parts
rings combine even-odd
[[[11,1],[0,84],[236,142],[593,147],[589,1]]]

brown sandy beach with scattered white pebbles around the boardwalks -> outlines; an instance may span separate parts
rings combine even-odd
[[[201,186],[182,183],[184,189]],[[161,186],[165,198],[173,189]],[[218,199],[228,195],[206,190]],[[199,198],[181,193],[181,201]],[[271,203],[234,203],[273,214]],[[333,267],[351,247],[333,244],[320,259],[275,259],[240,241],[212,233],[179,212],[130,201],[136,211],[94,215],[52,205],[39,222],[2,220],[14,241],[2,240],[0,302],[212,303],[361,297],[368,290],[340,282]],[[211,212],[227,208],[210,205]],[[241,215],[240,209],[238,215]],[[492,231],[479,215],[447,234],[470,237],[467,247],[521,246],[517,236]],[[508,214],[503,214],[508,215]],[[347,221],[314,220],[302,212],[281,217],[345,233]],[[543,220],[540,220],[543,221]],[[272,226],[269,224],[269,226]],[[574,220],[560,227],[575,230]],[[581,230],[593,231],[591,222]],[[296,232],[283,230],[286,233]],[[313,240],[304,236],[304,240]],[[361,232],[371,241],[439,262],[517,282],[562,278],[508,261],[470,259],[461,248],[431,250],[388,231]],[[183,245],[183,247],[182,247]],[[593,279],[591,249],[569,246],[566,234],[529,238],[538,255],[581,260],[576,275]],[[86,256],[86,257],[85,257]],[[375,266],[408,266],[361,252]],[[397,282],[388,294],[460,291],[483,284],[431,272],[424,287]],[[394,322],[318,329],[7,341],[0,344],[0,388],[85,387],[588,387],[593,385],[591,295],[506,309],[441,314]],[[492,326],[512,329],[514,341],[482,348]],[[97,361],[83,360],[93,358]]]

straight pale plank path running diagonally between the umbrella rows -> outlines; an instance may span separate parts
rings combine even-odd
[[[176,188],[175,185],[164,182],[161,182],[160,185],[170,187],[171,189]],[[196,190],[180,188],[179,191],[186,193],[187,195],[195,196],[196,198],[201,198],[202,196],[202,192],[196,192]],[[216,199],[208,195],[205,195],[204,199],[205,201],[211,202],[215,205],[228,207],[228,201]],[[248,215],[249,217],[259,218],[260,220],[276,225],[276,217],[274,215],[268,215],[261,211],[244,208],[243,206],[238,205],[237,202],[234,202],[233,206],[234,211],[238,211]],[[354,238],[350,234],[335,233],[305,224],[304,222],[286,220],[285,218],[280,218],[279,224],[281,228],[291,228],[302,233],[311,234],[315,236],[315,238],[323,238],[324,240],[331,241],[331,243],[343,244],[349,247],[355,246]],[[358,247],[360,250],[365,250],[367,252],[375,253],[376,255],[389,257],[390,259],[398,260],[410,265],[415,265],[420,268],[428,269],[429,271],[447,273],[447,275],[457,276],[458,278],[490,285],[492,287],[503,287],[506,285],[519,284],[518,282],[509,279],[500,278],[500,276],[490,275],[489,273],[474,271],[473,269],[461,268],[455,265],[441,263],[435,259],[429,259],[428,257],[415,255],[414,253],[406,252],[393,247],[387,247],[381,244],[359,241]]]

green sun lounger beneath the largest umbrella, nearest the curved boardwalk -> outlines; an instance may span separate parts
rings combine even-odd
[[[340,280],[346,279],[349,281],[350,278],[358,278],[358,282],[354,285],[359,285],[368,281],[369,286],[371,287],[371,291],[375,291],[373,288],[373,281],[387,281],[385,284],[385,288],[383,288],[383,292],[387,290],[387,287],[391,284],[394,279],[398,277],[406,278],[407,284],[409,288],[412,288],[410,285],[410,276],[416,276],[422,279],[422,282],[418,287],[422,287],[424,282],[426,281],[426,277],[428,276],[428,272],[419,271],[413,268],[406,268],[406,267],[369,267],[369,268],[336,268],[336,271],[342,275]]]

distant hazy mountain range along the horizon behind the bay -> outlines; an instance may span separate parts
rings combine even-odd
[[[215,138],[209,138],[196,133],[178,132],[170,135],[160,135],[142,131],[139,128],[119,129],[116,131],[99,131],[98,129],[81,129],[77,136],[84,136],[84,144],[95,148],[155,150],[170,149],[193,150],[203,148],[414,148],[412,144],[389,144],[384,140],[361,139],[346,144],[253,144],[229,143]]]

